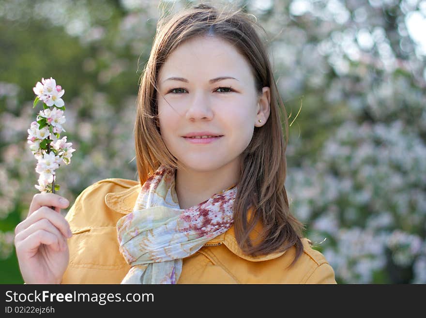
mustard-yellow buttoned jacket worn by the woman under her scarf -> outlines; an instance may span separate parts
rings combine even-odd
[[[137,181],[105,179],[86,188],[68,211],[73,236],[70,262],[62,284],[120,284],[130,269],[117,240],[117,221],[132,212],[140,189]],[[304,253],[292,266],[293,246],[261,257],[244,255],[234,228],[183,258],[178,284],[335,284],[335,273],[324,256],[302,240]]]

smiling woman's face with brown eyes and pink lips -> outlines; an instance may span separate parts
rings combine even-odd
[[[193,170],[239,165],[254,127],[266,121],[259,114],[249,63],[216,37],[197,37],[178,46],[159,70],[158,89],[161,136],[179,163]],[[193,132],[222,136],[196,143],[184,137]]]

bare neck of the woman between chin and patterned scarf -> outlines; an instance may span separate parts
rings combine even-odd
[[[235,162],[213,171],[178,169],[175,190],[179,207],[186,210],[237,184],[238,174],[239,165]]]

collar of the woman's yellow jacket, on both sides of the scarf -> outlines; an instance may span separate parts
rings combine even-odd
[[[130,187],[127,190],[121,191],[121,192],[112,192],[108,193],[105,196],[105,203],[111,210],[122,213],[122,214],[129,214],[133,211],[133,207],[135,206],[135,202],[137,199],[137,196],[139,194],[141,185],[137,184],[132,187]],[[248,212],[248,214],[251,214],[251,210]],[[255,240],[257,235],[259,234],[260,230],[262,229],[262,225],[259,222],[252,233],[250,233],[250,238],[252,240]],[[238,246],[237,239],[235,238],[235,232],[234,232],[234,226],[232,225],[228,231],[225,233],[222,233],[206,244],[225,244],[228,249],[234,253],[235,255],[244,258],[246,260],[250,261],[263,261],[263,260],[269,260],[276,257],[280,257],[285,253],[284,252],[275,252],[268,255],[262,255],[257,257],[252,257],[249,255],[246,255],[243,253],[242,249]]]

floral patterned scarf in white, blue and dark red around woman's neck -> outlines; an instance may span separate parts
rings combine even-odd
[[[176,284],[182,259],[232,226],[236,194],[234,185],[182,210],[175,171],[161,165],[141,187],[133,212],[117,222],[120,252],[132,266],[122,284]]]

